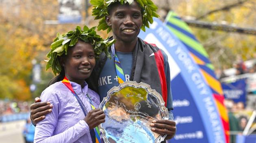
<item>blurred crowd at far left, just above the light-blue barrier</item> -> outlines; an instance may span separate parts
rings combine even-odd
[[[27,101],[0,100],[0,116],[16,113],[27,113],[30,110],[30,103]]]

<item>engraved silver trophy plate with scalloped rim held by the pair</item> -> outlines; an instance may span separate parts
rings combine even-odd
[[[111,88],[100,103],[106,115],[100,124],[105,143],[160,143],[166,135],[151,131],[153,120],[168,119],[162,96],[143,82]]]

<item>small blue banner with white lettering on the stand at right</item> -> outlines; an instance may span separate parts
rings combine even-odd
[[[231,99],[235,103],[246,101],[246,81],[245,79],[236,80],[231,83],[221,83],[223,93],[226,99]]]

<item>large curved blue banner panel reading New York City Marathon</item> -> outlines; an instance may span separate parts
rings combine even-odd
[[[159,20],[139,34],[168,56],[177,132],[171,143],[226,143],[221,118],[200,68],[187,48]]]

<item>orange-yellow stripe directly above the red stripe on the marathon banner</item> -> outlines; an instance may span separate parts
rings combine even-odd
[[[208,85],[213,88],[219,95],[223,95],[221,84],[218,80],[210,76],[206,71],[202,70],[202,74],[204,75],[206,81],[208,82]]]

